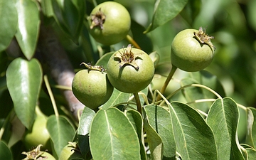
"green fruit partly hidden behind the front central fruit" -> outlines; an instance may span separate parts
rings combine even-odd
[[[75,97],[92,110],[107,102],[113,89],[107,74],[98,70],[80,70],[72,82]]]

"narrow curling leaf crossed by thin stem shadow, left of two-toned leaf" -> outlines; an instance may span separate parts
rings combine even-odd
[[[144,110],[149,124],[162,139],[164,144],[164,159],[176,159],[176,144],[170,113],[163,107],[157,105],[147,105],[144,107]]]

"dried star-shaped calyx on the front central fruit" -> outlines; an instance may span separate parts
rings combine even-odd
[[[141,54],[142,53],[132,53],[132,45],[129,44],[126,49],[123,49],[122,53],[116,53],[114,55],[114,58],[119,58],[120,68],[122,68],[124,65],[132,65],[136,70],[139,70],[139,65],[137,65],[135,60]]]

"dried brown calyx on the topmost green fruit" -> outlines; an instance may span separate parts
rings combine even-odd
[[[100,26],[100,29],[103,29],[103,23],[105,22],[106,16],[100,9],[96,12],[96,14],[92,14],[90,16],[90,19],[92,22],[90,25],[90,29],[95,28],[97,26]]]

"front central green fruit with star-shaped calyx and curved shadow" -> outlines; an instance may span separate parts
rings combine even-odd
[[[117,90],[136,93],[149,85],[154,77],[154,63],[143,50],[117,50],[107,63],[107,77]]]

